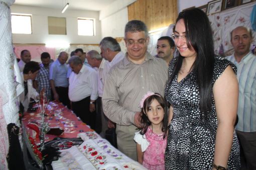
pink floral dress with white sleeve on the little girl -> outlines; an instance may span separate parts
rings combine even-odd
[[[145,167],[150,170],[165,170],[167,137],[163,139],[163,134],[156,134],[148,127],[144,135],[140,134],[140,132],[136,132],[134,140],[142,145],[142,151],[144,151],[143,165]]]

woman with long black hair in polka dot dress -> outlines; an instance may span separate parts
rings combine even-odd
[[[180,12],[172,37],[180,55],[169,64],[165,89],[171,104],[166,169],[239,169],[235,65],[214,55],[201,9]]]

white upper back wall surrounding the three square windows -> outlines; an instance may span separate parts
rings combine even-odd
[[[32,34],[13,34],[13,43],[58,43],[67,42],[75,44],[98,44],[101,40],[101,23],[98,11],[66,10],[61,13],[59,9],[12,5],[14,13],[32,14]],[[48,34],[48,16],[66,17],[67,35]],[[95,18],[96,35],[77,35],[77,17]],[[21,25],[22,26],[22,25]]]

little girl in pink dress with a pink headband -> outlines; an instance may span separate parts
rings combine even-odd
[[[148,169],[165,169],[168,114],[164,98],[148,92],[140,102],[142,127],[135,133],[137,158]]]

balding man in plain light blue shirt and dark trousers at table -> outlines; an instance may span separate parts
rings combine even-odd
[[[68,98],[67,59],[68,53],[62,51],[60,52],[58,59],[51,64],[50,84],[54,99],[57,101],[59,100],[70,108],[70,100]]]

